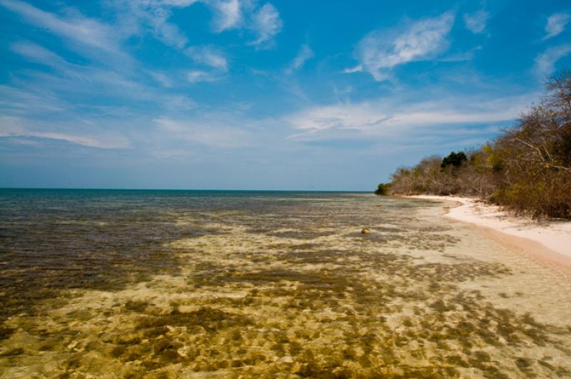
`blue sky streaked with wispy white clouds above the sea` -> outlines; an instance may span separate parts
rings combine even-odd
[[[568,1],[0,0],[0,187],[365,190],[571,68]]]

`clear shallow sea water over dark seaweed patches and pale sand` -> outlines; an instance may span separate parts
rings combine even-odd
[[[0,375],[571,377],[567,279],[443,214],[369,194],[0,190]]]

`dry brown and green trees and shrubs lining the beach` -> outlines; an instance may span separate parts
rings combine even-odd
[[[550,78],[545,89],[495,140],[400,167],[378,192],[473,196],[518,214],[571,219],[571,72]]]

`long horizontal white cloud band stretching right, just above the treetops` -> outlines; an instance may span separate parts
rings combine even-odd
[[[482,101],[450,98],[398,104],[390,100],[340,103],[308,108],[286,122],[301,133],[291,137],[325,137],[340,130],[363,135],[397,135],[418,128],[514,120],[530,103],[530,95]]]

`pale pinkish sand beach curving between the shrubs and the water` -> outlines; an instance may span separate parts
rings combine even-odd
[[[571,221],[532,220],[515,217],[497,205],[470,197],[413,195],[417,199],[456,202],[445,217],[473,224],[490,237],[525,251],[530,258],[552,266],[571,277]]]

